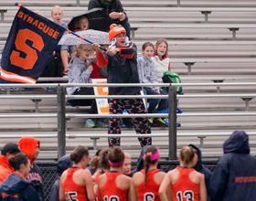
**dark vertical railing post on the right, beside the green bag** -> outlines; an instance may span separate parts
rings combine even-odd
[[[169,160],[176,160],[176,87],[169,86]]]

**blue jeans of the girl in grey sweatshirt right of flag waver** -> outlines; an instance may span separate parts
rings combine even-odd
[[[160,94],[155,92],[152,88],[144,87],[146,95],[168,95],[164,90],[160,89]],[[148,106],[148,113],[153,113],[156,106],[158,105],[157,111],[164,111],[168,108],[168,99],[150,99]]]

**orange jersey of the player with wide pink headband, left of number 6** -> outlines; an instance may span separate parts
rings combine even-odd
[[[106,184],[100,188],[101,198],[103,201],[126,201],[127,190],[123,190],[115,183],[118,175],[123,175],[121,172],[108,171],[105,172],[107,176]]]

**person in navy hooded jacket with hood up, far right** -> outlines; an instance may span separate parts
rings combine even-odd
[[[250,155],[249,136],[235,131],[223,143],[224,155],[210,179],[211,201],[256,199],[256,159]]]

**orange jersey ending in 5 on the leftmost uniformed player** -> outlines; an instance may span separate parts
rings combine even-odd
[[[66,200],[79,200],[87,201],[86,187],[84,185],[78,185],[73,180],[73,175],[76,171],[80,170],[80,167],[74,167],[68,169],[68,175],[63,182],[63,191],[66,196]]]

